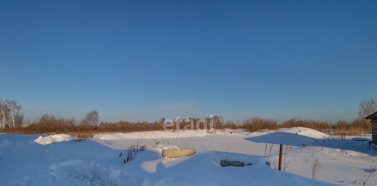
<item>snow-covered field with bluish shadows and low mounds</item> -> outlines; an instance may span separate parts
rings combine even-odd
[[[358,185],[371,166],[377,166],[377,151],[368,149],[368,141],[351,140],[352,136],[340,140],[308,128],[276,133],[212,130],[204,137],[198,135],[203,132],[151,131],[99,134],[72,141],[66,134],[0,134],[0,185]],[[145,138],[147,150],[122,164],[120,152],[140,136]],[[273,139],[269,167],[265,162]],[[287,158],[292,154],[294,158],[285,172],[273,169],[280,143],[293,146]],[[195,148],[197,153],[169,160],[161,157],[164,144]],[[313,180],[311,166],[316,159],[323,169]],[[221,160],[252,165],[221,167]],[[377,174],[367,185],[377,185]]]

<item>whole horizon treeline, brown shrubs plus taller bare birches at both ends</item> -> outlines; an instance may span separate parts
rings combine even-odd
[[[8,100],[7,100],[8,101]],[[17,106],[15,101],[0,101],[0,110],[6,111],[7,106],[5,103],[12,103],[13,108]],[[9,105],[9,104],[8,104]],[[21,106],[17,106],[20,110]],[[75,120],[73,117],[71,119],[55,117],[54,115],[44,114],[40,118],[34,121],[23,121],[21,120],[11,120],[11,116],[19,115],[18,110],[11,109],[9,114],[2,114],[0,117],[0,123],[2,124],[2,132],[13,133],[13,134],[52,134],[52,133],[103,133],[103,132],[141,132],[141,131],[162,131],[163,123],[165,118],[161,118],[159,121],[154,122],[129,122],[129,121],[117,121],[117,122],[101,122],[98,124],[98,112],[90,111],[86,114],[83,120]],[[333,135],[359,135],[365,134],[366,132],[371,132],[371,124],[368,120],[365,120],[369,114],[372,114],[377,110],[377,103],[373,98],[370,100],[364,100],[360,103],[359,118],[352,121],[338,120],[336,122],[331,121],[318,121],[318,120],[303,120],[301,118],[291,118],[277,123],[276,119],[273,118],[261,118],[253,117],[248,118],[242,123],[234,123],[232,121],[224,121],[221,116],[214,116],[213,118],[188,118],[193,120],[195,123],[198,120],[204,119],[207,123],[207,129],[209,129],[210,120],[213,121],[214,129],[246,129],[250,132],[262,131],[265,129],[276,130],[280,128],[291,128],[291,127],[306,127],[315,129],[326,134]],[[6,120],[6,118],[10,120]],[[8,125],[5,125],[7,123]],[[27,125],[25,125],[27,124]],[[173,127],[168,127],[167,129],[182,130],[185,125],[190,123],[185,122],[185,118],[182,118],[179,123],[179,128],[177,128],[177,123],[173,123]],[[204,128],[204,123],[200,123],[199,129]],[[196,127],[195,127],[196,129]]]

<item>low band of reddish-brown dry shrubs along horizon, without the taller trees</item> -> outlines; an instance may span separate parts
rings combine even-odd
[[[189,118],[195,121],[201,118]],[[222,117],[213,117],[214,129],[246,129],[250,132],[261,131],[265,129],[276,130],[280,128],[291,127],[306,127],[316,129],[320,132],[327,134],[339,135],[339,132],[347,132],[349,135],[357,133],[366,133],[371,131],[371,125],[359,118],[353,121],[339,120],[336,123],[330,121],[316,121],[316,120],[303,120],[300,118],[291,118],[289,120],[277,123],[276,119],[253,117],[242,121],[241,124],[236,124],[232,121],[223,121]],[[129,122],[129,121],[117,121],[117,122],[101,122],[99,125],[92,125],[92,123],[86,120],[77,121],[74,118],[64,119],[55,117],[53,115],[45,114],[28,125],[15,125],[14,128],[6,127],[3,132],[13,134],[52,134],[52,133],[102,133],[102,132],[141,132],[141,131],[162,131],[165,118],[161,118],[159,121],[154,122]],[[179,124],[179,130],[184,129],[185,125],[189,125],[182,118],[182,122]],[[210,118],[204,118],[207,121],[209,127]],[[200,129],[204,128],[204,123],[200,123]],[[173,127],[167,127],[167,129],[177,129],[177,123],[174,122]],[[196,129],[196,127],[195,127]]]

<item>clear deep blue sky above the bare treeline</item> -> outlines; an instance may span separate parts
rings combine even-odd
[[[64,118],[95,109],[102,121],[351,120],[377,98],[376,7],[1,1],[0,98]]]

